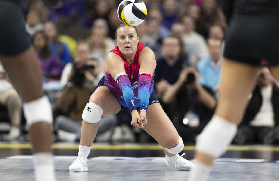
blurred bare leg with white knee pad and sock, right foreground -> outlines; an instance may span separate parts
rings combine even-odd
[[[258,67],[224,59],[215,115],[196,143],[196,167],[189,181],[205,181],[215,158],[220,157],[237,132]]]

